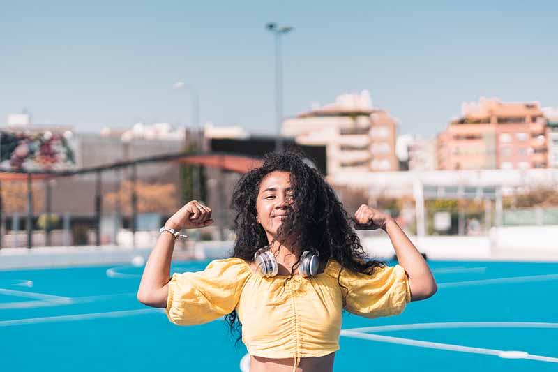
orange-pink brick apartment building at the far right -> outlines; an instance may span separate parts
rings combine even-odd
[[[461,117],[437,140],[442,170],[548,167],[546,119],[537,101],[463,103]]]

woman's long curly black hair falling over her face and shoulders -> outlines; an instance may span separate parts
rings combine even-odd
[[[288,238],[289,244],[304,247],[304,250],[318,251],[320,266],[333,258],[343,268],[371,275],[375,267],[385,265],[383,261],[368,258],[359,236],[352,228],[354,221],[345,211],[333,188],[315,168],[305,162],[303,154],[294,148],[266,154],[263,165],[243,174],[234,187],[231,208],[236,212],[236,240],[232,257],[253,262],[256,251],[268,246],[266,233],[256,221],[256,200],[262,180],[275,171],[290,173],[293,195],[292,203],[287,207],[287,218],[282,220],[278,231],[280,241]],[[298,265],[299,261],[294,263],[291,276],[286,281],[292,278]],[[339,277],[340,273],[338,282]],[[227,315],[226,320],[231,331],[241,329],[236,311]]]

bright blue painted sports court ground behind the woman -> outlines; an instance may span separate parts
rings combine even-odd
[[[342,336],[335,371],[558,370],[558,264],[430,265],[435,297],[390,318],[344,315],[345,330],[397,327]],[[246,349],[223,320],[172,325],[135,299],[142,268],[107,269],[0,271],[0,371],[240,371]],[[499,356],[510,350],[525,353]]]

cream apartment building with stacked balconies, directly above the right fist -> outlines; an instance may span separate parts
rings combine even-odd
[[[282,124],[282,135],[296,143],[326,146],[327,173],[345,170],[398,170],[395,156],[397,123],[372,107],[368,91],[343,94],[334,103],[315,107]]]

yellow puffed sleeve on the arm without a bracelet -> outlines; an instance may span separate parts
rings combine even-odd
[[[411,301],[409,278],[400,265],[375,267],[372,275],[343,268],[340,282],[348,290],[347,311],[365,318],[400,314]]]

